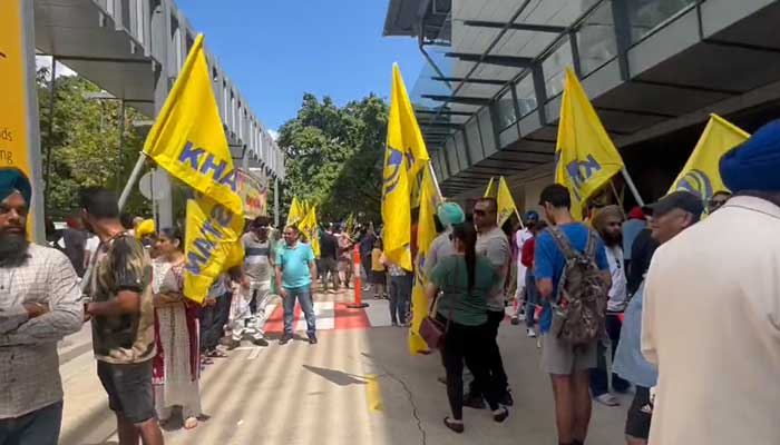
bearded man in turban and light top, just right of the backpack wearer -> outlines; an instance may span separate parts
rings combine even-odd
[[[591,369],[591,395],[593,398],[606,406],[617,406],[617,399],[610,394],[610,380],[607,378],[606,350],[610,347],[611,357],[615,357],[615,349],[621,339],[620,314],[625,309],[626,303],[626,278],[625,263],[623,258],[623,212],[617,206],[606,206],[598,210],[593,218],[593,228],[604,241],[606,249],[606,260],[610,264],[610,275],[612,286],[610,287],[610,299],[606,304],[606,334],[610,342],[598,342],[597,366]],[[622,379],[617,374],[612,373],[612,388],[618,393],[628,389],[628,382]]]

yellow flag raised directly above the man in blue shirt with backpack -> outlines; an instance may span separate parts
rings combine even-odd
[[[623,159],[585,90],[567,68],[555,147],[555,181],[568,188],[572,215],[582,219],[588,198],[623,168]]]

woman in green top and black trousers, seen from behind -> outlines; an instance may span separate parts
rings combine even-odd
[[[474,374],[477,384],[486,388],[485,398],[496,422],[509,416],[506,407],[498,405],[498,385],[486,366],[485,352],[491,338],[487,328],[487,295],[498,281],[490,261],[477,256],[477,233],[468,222],[452,227],[455,255],[436,265],[426,288],[428,299],[441,290],[436,318],[446,324],[441,357],[447,369],[447,397],[452,417],[445,417],[445,425],[456,433],[464,431],[464,362]]]

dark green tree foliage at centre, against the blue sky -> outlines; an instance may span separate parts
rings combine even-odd
[[[354,212],[380,219],[381,164],[388,106],[376,95],[338,107],[311,93],[280,129],[285,187],[282,214],[292,197],[318,206],[318,217],[341,220]]]

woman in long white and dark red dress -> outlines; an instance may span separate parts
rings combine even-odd
[[[184,298],[182,230],[160,230],[155,249],[159,253],[153,261],[152,279],[157,340],[153,366],[155,408],[164,424],[169,421],[172,408],[181,406],[184,427],[192,429],[201,415],[199,307]]]

